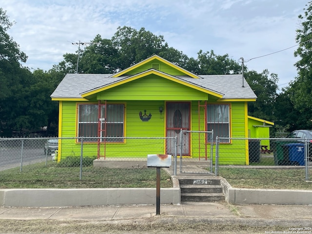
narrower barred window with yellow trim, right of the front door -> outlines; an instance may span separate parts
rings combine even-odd
[[[214,137],[230,137],[230,105],[207,105],[207,131],[211,130],[214,130]],[[229,143],[230,140],[220,139],[220,142]]]

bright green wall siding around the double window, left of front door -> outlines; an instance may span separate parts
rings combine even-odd
[[[116,103],[116,102],[114,102]],[[120,102],[124,103],[124,102]],[[125,104],[125,103],[124,103]],[[164,137],[164,114],[159,113],[159,107],[164,108],[164,101],[131,101],[126,103],[126,137]],[[76,137],[76,102],[64,101],[62,105],[62,137]],[[152,118],[143,122],[139,118],[139,111]],[[60,155],[80,156],[81,144],[75,139],[61,140]],[[83,156],[97,156],[97,143],[84,143]],[[101,144],[101,155],[104,155],[104,144]],[[164,139],[127,139],[126,143],[107,143],[107,157],[146,157],[147,154],[164,154]]]

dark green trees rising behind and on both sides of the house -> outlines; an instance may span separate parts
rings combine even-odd
[[[306,19],[302,23],[302,29],[298,30],[299,42],[312,38],[309,34],[310,8],[311,6],[305,16],[299,17],[302,20]],[[40,69],[30,72],[28,68],[20,65],[26,61],[27,56],[7,34],[7,30],[13,24],[14,22],[10,22],[6,16],[6,12],[0,8],[0,133],[2,135],[0,137],[11,137],[12,131],[30,132],[43,126],[48,127],[47,135],[56,136],[59,109],[58,103],[52,101],[50,95],[66,74],[76,73],[77,62],[78,73],[112,74],[152,55],[159,55],[198,75],[241,73],[240,64],[230,59],[228,54],[216,55],[213,50],[210,52],[200,50],[197,58],[189,58],[182,51],[169,47],[162,35],[157,36],[143,27],[136,30],[127,26],[118,27],[111,39],[102,39],[97,35],[90,43],[80,46],[76,53],[64,54],[64,59],[59,64],[53,65],[47,72]],[[245,67],[247,71],[245,77],[258,97],[256,102],[249,104],[250,115],[270,121],[281,119],[286,124],[295,120],[292,124],[295,123],[296,126],[311,124],[309,121],[312,116],[312,100],[311,95],[310,97],[306,95],[312,90],[309,81],[311,43],[310,41],[302,44],[296,52],[297,56],[304,59],[297,63],[300,76],[298,82],[293,84],[296,90],[292,91],[291,95],[288,94],[288,98],[292,100],[291,105],[302,113],[302,117],[294,119],[292,117],[295,116],[288,115],[287,121],[283,120],[282,110],[274,103],[277,98],[276,74],[269,75],[267,70],[261,74],[248,72]],[[309,69],[305,70],[306,67]],[[279,99],[282,103],[282,98]],[[287,106],[287,109],[290,109],[291,105]],[[303,116],[304,120],[302,120]],[[52,129],[55,132],[51,132]]]

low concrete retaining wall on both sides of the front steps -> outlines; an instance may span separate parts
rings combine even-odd
[[[225,200],[232,204],[311,205],[311,190],[233,188],[221,178]],[[160,189],[161,204],[181,204],[176,176],[173,188]],[[69,207],[156,204],[156,188],[0,189],[0,206]]]

